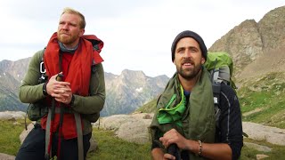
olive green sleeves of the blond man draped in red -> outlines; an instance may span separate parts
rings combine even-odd
[[[45,99],[44,84],[38,84],[38,79],[41,76],[39,66],[43,53],[43,50],[36,52],[29,62],[28,71],[20,85],[19,98],[23,103],[34,103]],[[75,100],[71,107],[74,112],[79,113],[82,117],[84,135],[92,132],[91,122],[98,119],[105,102],[105,80],[102,64],[96,64],[92,69],[95,71],[92,72],[90,84],[88,84],[89,96],[74,95]]]

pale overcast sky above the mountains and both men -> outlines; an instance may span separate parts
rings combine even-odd
[[[31,57],[57,30],[64,7],[85,15],[85,34],[102,39],[105,72],[172,76],[170,47],[190,29],[209,48],[244,20],[259,21],[284,0],[0,0],[0,61]]]

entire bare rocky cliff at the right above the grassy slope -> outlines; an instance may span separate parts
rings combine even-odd
[[[266,13],[259,22],[245,20],[218,39],[209,48],[209,52],[229,52],[236,77],[246,71],[244,68],[249,64],[260,61],[257,59],[264,59],[265,56],[270,58],[273,52],[279,52],[281,57],[285,57],[281,50],[285,44],[284,15],[285,6],[282,6]],[[276,63],[274,60],[270,60],[270,63]],[[261,63],[258,65],[262,67]]]

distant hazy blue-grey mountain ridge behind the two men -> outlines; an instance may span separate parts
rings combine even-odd
[[[26,111],[28,104],[20,102],[18,92],[29,60],[30,57],[16,61],[0,61],[0,111]],[[105,72],[104,76],[107,96],[101,116],[133,112],[157,96],[168,79],[165,75],[151,77],[140,70],[130,69],[124,69],[120,75]]]

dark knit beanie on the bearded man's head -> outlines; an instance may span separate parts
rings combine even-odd
[[[178,41],[184,37],[191,37],[193,39],[195,39],[198,44],[199,44],[199,48],[202,52],[202,56],[204,57],[205,60],[207,60],[207,47],[206,45],[204,44],[204,41],[202,39],[201,36],[199,36],[197,33],[195,32],[192,32],[190,30],[185,30],[183,32],[181,32],[180,34],[178,34],[176,37],[175,37],[175,40],[173,41],[172,43],[172,46],[171,46],[171,53],[172,53],[172,61],[175,60],[175,49],[176,49],[176,44],[178,43]]]

